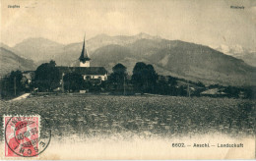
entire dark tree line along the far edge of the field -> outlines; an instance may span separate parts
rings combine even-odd
[[[186,82],[173,77],[159,76],[152,65],[143,62],[136,63],[132,76],[128,76],[127,69],[122,64],[117,64],[112,68],[112,73],[105,81],[101,80],[84,80],[82,75],[69,73],[61,76],[56,63],[41,64],[35,73],[34,80],[30,83],[30,89],[38,91],[79,91],[81,89],[89,91],[110,91],[116,94],[133,94],[133,93],[155,93],[164,95],[190,95],[189,88],[186,84],[178,84],[177,81]],[[1,95],[16,96],[28,88],[21,82],[23,75],[21,71],[12,72],[9,76],[1,80]],[[62,82],[64,81],[64,83]],[[202,82],[187,81],[197,86],[192,95],[199,96],[206,86]],[[64,85],[61,85],[64,84]],[[252,98],[252,88],[238,88],[234,86],[222,86],[219,84],[210,85],[209,88],[223,88],[224,92],[230,97],[239,97],[243,92],[245,97]]]

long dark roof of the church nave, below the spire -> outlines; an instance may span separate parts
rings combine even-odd
[[[105,75],[107,71],[103,67],[57,67],[62,74],[77,73],[80,75]]]

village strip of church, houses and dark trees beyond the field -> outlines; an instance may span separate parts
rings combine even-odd
[[[201,81],[160,76],[154,66],[138,62],[133,75],[127,74],[126,67],[116,64],[112,73],[104,67],[91,67],[86,40],[78,58],[79,67],[57,66],[51,60],[41,64],[35,71],[16,71],[2,79],[1,97],[11,98],[23,93],[91,93],[91,94],[157,94],[172,96],[210,96],[251,98],[250,89],[234,86],[211,84],[206,86]]]

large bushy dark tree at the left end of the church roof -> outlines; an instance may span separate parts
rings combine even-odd
[[[35,71],[35,85],[40,90],[53,90],[59,86],[59,80],[59,70],[52,60],[49,63],[41,64]]]

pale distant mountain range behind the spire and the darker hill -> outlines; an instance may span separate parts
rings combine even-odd
[[[92,55],[96,49],[107,45],[121,45],[126,46],[134,43],[140,39],[148,40],[164,40],[159,36],[152,36],[147,33],[139,33],[132,36],[117,35],[109,36],[107,34],[98,34],[95,37],[87,40],[87,48]],[[46,38],[36,37],[28,38],[21,43],[15,45],[13,48],[6,48],[10,51],[17,53],[17,55],[32,59],[37,65],[48,62],[51,59],[56,60],[60,65],[74,65],[77,61],[76,56],[80,55],[83,42],[71,43],[67,45],[59,44]],[[166,42],[167,43],[167,42]],[[150,45],[150,44],[149,44]],[[138,46],[140,47],[140,46]],[[153,49],[153,47],[152,47]],[[256,53],[241,47],[221,45],[214,48],[217,51],[230,55],[237,59],[243,60],[246,64],[255,67]],[[35,54],[36,53],[36,54]]]

